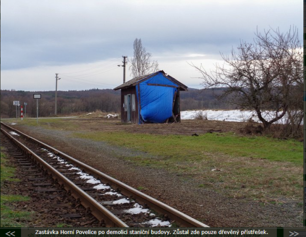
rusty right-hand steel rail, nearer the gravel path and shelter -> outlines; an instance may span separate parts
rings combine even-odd
[[[4,124],[3,122],[1,122],[1,124]],[[23,134],[21,131],[12,128],[6,124],[4,124],[6,127],[16,131],[16,133],[21,134],[22,136],[27,137],[28,139],[31,139],[37,143],[39,143],[41,146],[43,146],[46,149],[50,149],[52,150],[54,153],[63,156],[65,159],[67,159],[68,161],[70,161],[71,163],[73,163],[74,165],[78,166],[80,169],[83,169],[84,171],[86,171],[87,173],[89,173],[90,175],[94,176],[95,178],[100,179],[101,181],[107,183],[108,185],[110,185],[113,189],[119,189],[120,192],[128,197],[133,197],[135,200],[137,200],[137,202],[139,202],[142,205],[147,205],[148,207],[150,207],[151,209],[155,210],[158,213],[167,215],[170,219],[176,221],[177,223],[180,224],[180,226],[182,227],[209,227],[206,224],[203,224],[200,221],[195,220],[192,217],[187,216],[186,214],[180,212],[179,210],[176,210],[168,205],[166,205],[165,203],[162,203],[160,201],[158,201],[155,198],[152,198],[144,193],[139,192],[138,190],[125,185],[125,183],[116,180],[114,178],[112,178],[111,176],[100,172],[76,159],[74,159],[73,157],[57,150],[54,147],[51,147],[45,143],[42,143],[40,141],[38,141],[35,138],[32,138],[28,135]]]

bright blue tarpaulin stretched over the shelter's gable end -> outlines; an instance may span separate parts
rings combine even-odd
[[[141,82],[139,87],[136,87],[141,116],[139,121],[162,123],[172,117],[172,104],[177,88],[179,86],[169,81],[162,73]]]

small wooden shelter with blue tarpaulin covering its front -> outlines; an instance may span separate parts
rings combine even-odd
[[[187,86],[164,71],[137,76],[114,88],[120,89],[123,123],[181,122],[180,91],[187,91]]]

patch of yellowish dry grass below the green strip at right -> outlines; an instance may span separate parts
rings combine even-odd
[[[284,202],[284,197],[302,200],[302,167],[251,157],[232,157],[203,152],[208,158],[189,165],[190,173],[206,188],[236,199]],[[215,171],[212,171],[215,169]]]

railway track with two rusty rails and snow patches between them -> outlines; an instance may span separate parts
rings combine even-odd
[[[103,226],[209,227],[3,122],[1,132],[23,166],[37,163]]]

